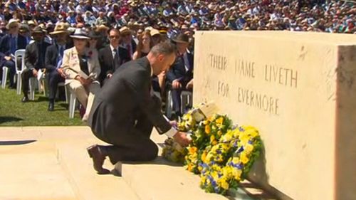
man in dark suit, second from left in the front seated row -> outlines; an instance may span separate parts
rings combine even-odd
[[[33,29],[32,37],[34,42],[26,47],[25,65],[26,69],[21,74],[23,84],[22,102],[28,102],[28,80],[31,77],[37,78],[38,70],[45,68],[46,49],[50,45],[44,41],[46,31],[37,26]]]

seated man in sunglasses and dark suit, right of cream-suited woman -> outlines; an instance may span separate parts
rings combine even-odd
[[[104,85],[112,74],[123,63],[130,61],[130,55],[125,48],[119,47],[120,31],[112,28],[109,31],[110,46],[102,48],[99,52],[99,63],[101,67],[100,82]]]

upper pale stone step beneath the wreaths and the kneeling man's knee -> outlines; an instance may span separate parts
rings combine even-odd
[[[158,144],[160,154],[162,144],[167,137],[158,135],[154,131],[151,138]],[[229,197],[208,194],[199,187],[199,176],[188,172],[179,164],[167,162],[162,157],[152,162],[118,162],[115,164],[115,169],[141,200],[273,199],[248,181],[244,183],[245,188],[231,192]]]

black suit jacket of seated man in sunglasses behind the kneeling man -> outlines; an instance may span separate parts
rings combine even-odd
[[[101,66],[100,80],[104,80],[109,73],[114,73],[117,70],[117,66],[130,61],[129,52],[125,48],[119,47],[119,64],[114,65],[114,58],[112,57],[112,51],[110,46],[100,49],[99,51],[99,63]]]

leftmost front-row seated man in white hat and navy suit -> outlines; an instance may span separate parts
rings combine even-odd
[[[25,49],[27,45],[26,38],[19,34],[19,27],[19,22],[16,19],[11,19],[6,25],[6,28],[9,29],[9,33],[2,37],[0,41],[1,72],[3,66],[9,68],[10,88],[16,88],[16,84],[14,83],[14,76],[16,74],[16,66],[14,60],[15,51],[18,49]],[[21,65],[19,65],[19,67],[20,66]]]

